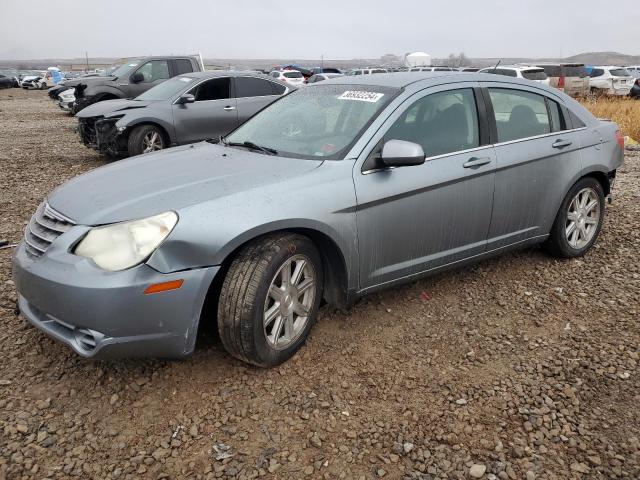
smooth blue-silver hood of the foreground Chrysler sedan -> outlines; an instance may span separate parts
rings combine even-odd
[[[102,225],[290,181],[321,164],[202,142],[97,168],[58,187],[48,202],[77,224]]]

